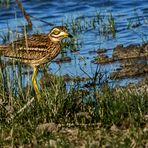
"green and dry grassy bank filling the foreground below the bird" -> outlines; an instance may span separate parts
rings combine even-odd
[[[1,89],[1,147],[146,146],[146,92],[117,93],[107,85],[95,91],[75,86],[67,90],[63,77],[49,74],[45,77],[48,81],[40,82],[40,101],[31,92],[29,96],[22,92],[15,96]]]

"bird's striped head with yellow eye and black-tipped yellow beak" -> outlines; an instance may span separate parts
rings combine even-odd
[[[64,26],[57,26],[51,29],[48,37],[53,42],[61,42],[64,38],[72,38],[72,35],[68,33],[67,28]]]

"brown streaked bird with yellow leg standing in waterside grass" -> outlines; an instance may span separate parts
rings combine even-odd
[[[61,51],[64,38],[72,38],[65,26],[55,26],[47,34],[26,35],[11,43],[0,45],[0,56],[14,59],[33,68],[32,84],[40,97],[36,76],[39,65],[53,60]]]

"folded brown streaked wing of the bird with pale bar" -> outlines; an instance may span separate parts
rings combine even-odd
[[[15,59],[38,60],[48,54],[48,36],[27,36],[11,44],[0,45],[0,55]]]

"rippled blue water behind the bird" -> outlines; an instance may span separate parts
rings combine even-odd
[[[51,22],[55,25],[61,25],[62,21],[72,21],[72,18],[87,18],[91,20],[96,12],[101,12],[106,16],[112,13],[115,18],[117,33],[116,37],[102,37],[98,33],[98,29],[88,29],[80,33],[75,38],[82,43],[79,52],[70,53],[72,61],[70,63],[56,64],[51,63],[49,69],[51,72],[71,76],[86,76],[84,71],[89,75],[93,75],[96,65],[91,63],[96,54],[89,54],[89,51],[98,48],[107,48],[108,56],[112,55],[112,50],[117,44],[127,46],[129,44],[142,44],[148,40],[148,1],[147,0],[23,0],[25,10],[32,16],[40,18],[44,21]],[[127,30],[128,23],[136,23],[140,20],[141,25],[136,28]],[[39,28],[40,32],[47,33],[51,26],[32,19],[34,31]],[[8,26],[11,30],[21,31],[22,25],[26,24],[22,13],[18,9],[14,1],[10,0],[10,5],[0,6],[0,34],[7,32]],[[2,39],[0,39],[2,42]],[[59,55],[60,56],[60,55]],[[82,71],[83,68],[84,71]],[[110,72],[118,67],[118,64],[103,65],[101,70]],[[58,71],[58,72],[57,72]],[[39,74],[40,77],[40,74]],[[127,81],[124,81],[124,83]],[[127,82],[128,83],[128,82]]]

